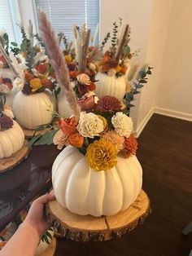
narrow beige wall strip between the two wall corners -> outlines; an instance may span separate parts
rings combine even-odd
[[[154,112],[157,97],[159,80],[162,77],[162,63],[164,51],[167,47],[168,24],[174,0],[153,0],[151,27],[147,42],[146,62],[152,69],[149,82],[142,88],[141,100],[137,117],[137,133],[142,131],[151,115]]]

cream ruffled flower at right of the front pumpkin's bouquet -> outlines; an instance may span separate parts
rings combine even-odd
[[[131,117],[127,117],[124,113],[117,112],[116,115],[111,118],[111,122],[118,135],[129,138],[133,130]]]

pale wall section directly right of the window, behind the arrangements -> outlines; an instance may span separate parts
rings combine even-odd
[[[113,22],[118,21],[120,17],[123,18],[124,22],[131,27],[130,46],[132,51],[140,50],[140,54],[133,58],[133,61],[137,61],[141,65],[145,64],[151,27],[151,11],[152,0],[101,1],[101,40],[107,32],[112,31]],[[138,126],[140,95],[137,95],[136,98],[137,100],[134,102],[136,107],[131,108],[135,130]]]

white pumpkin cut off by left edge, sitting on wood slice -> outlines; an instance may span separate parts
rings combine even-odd
[[[24,145],[24,131],[16,121],[13,121],[12,128],[0,130],[0,159],[11,157]]]

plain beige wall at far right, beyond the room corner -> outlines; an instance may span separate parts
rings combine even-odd
[[[192,1],[174,0],[156,100],[157,111],[192,121]]]

